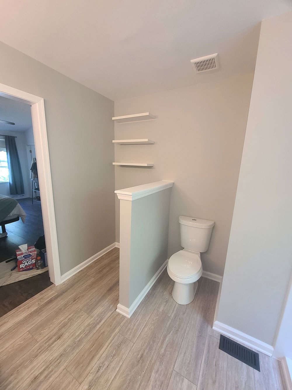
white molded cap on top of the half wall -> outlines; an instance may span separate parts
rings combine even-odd
[[[166,190],[173,186],[173,181],[161,180],[154,183],[142,184],[141,186],[123,188],[114,191],[121,200],[136,200],[154,194],[155,192]]]

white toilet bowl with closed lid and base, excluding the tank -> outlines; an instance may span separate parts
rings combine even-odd
[[[201,256],[198,252],[180,250],[171,256],[167,273],[174,280],[172,298],[180,305],[187,305],[195,298],[199,278],[203,273]]]

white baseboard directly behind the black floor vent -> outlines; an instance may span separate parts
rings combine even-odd
[[[215,321],[213,325],[213,329],[216,330],[217,332],[223,333],[223,335],[229,336],[232,339],[237,340],[238,342],[241,342],[252,348],[255,348],[257,349],[257,351],[260,351],[268,356],[272,356],[273,354],[274,348],[271,345],[266,344],[260,340],[257,340],[252,336],[246,335],[240,330],[231,328],[231,326],[222,324],[219,321]]]

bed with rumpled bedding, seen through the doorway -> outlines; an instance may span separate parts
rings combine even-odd
[[[19,218],[25,223],[26,213],[18,201],[11,197],[0,195],[0,226],[2,229],[0,238],[7,236],[5,225],[19,221]]]

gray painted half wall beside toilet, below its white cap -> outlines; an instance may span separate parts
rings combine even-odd
[[[121,189],[121,188],[120,188]],[[130,308],[167,260],[171,188],[121,202],[120,305]]]

